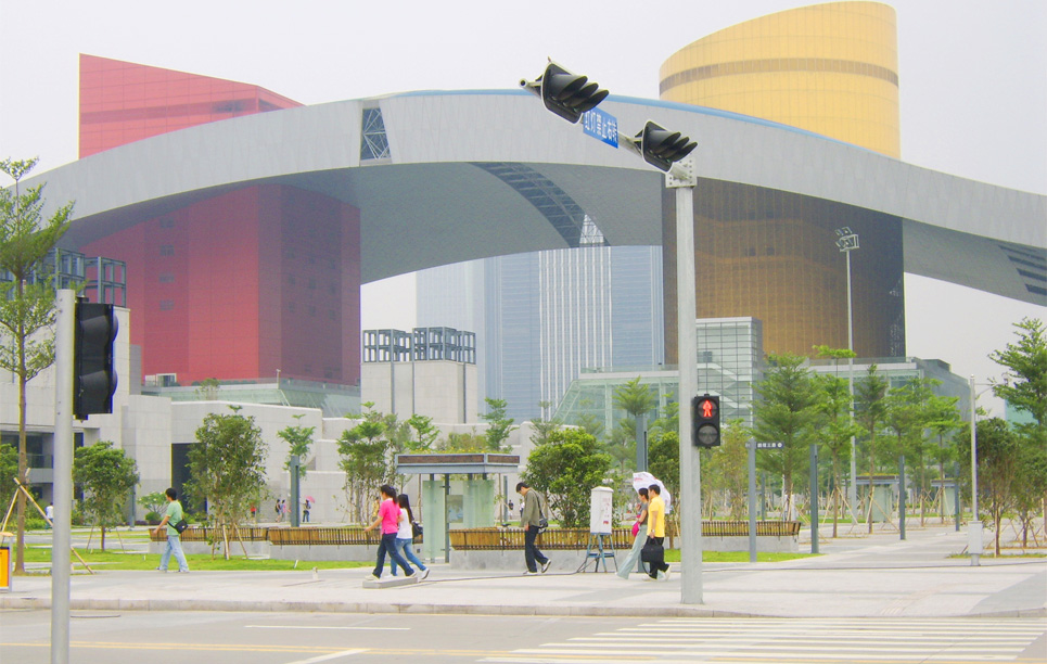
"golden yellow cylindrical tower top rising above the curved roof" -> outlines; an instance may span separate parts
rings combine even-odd
[[[674,53],[660,95],[807,129],[898,158],[894,9],[831,2],[770,14]]]

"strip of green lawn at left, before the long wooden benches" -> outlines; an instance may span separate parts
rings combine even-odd
[[[84,549],[77,549],[76,552],[79,553],[84,560],[87,561],[89,565],[98,565],[99,570],[155,570],[156,565],[159,564],[158,553],[123,553],[119,550],[119,544],[115,542],[116,550],[110,550],[106,548],[105,551],[86,551]],[[106,547],[108,547],[108,538],[106,538]],[[25,560],[27,563],[40,563],[40,562],[51,562],[51,548],[50,547],[26,547]],[[312,567],[318,567],[320,570],[344,570],[349,567],[368,567],[373,566],[373,562],[348,562],[348,561],[301,561],[298,566],[294,566],[293,560],[255,560],[255,559],[244,559],[241,557],[233,557],[229,560],[225,560],[220,556],[212,560],[209,554],[199,553],[199,554],[187,554],[186,560],[189,561],[189,569],[194,571],[272,571],[272,572],[286,572],[290,570],[298,570],[299,572],[306,572],[312,570]],[[73,557],[73,562],[76,563],[76,569],[82,569],[76,557]],[[171,569],[177,569],[177,564],[171,561]]]

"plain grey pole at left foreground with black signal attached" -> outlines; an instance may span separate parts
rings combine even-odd
[[[59,290],[54,323],[54,535],[51,541],[51,664],[69,661],[73,511],[73,336],[76,294]]]

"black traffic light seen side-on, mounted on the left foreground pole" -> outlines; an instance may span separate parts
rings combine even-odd
[[[118,329],[113,305],[77,301],[73,340],[73,414],[77,420],[113,412],[113,342]]]

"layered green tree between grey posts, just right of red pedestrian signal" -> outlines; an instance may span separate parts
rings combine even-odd
[[[804,358],[771,355],[770,368],[753,387],[761,399],[753,403],[757,440],[781,442],[781,449],[759,456],[761,468],[782,476],[782,519],[792,510],[793,476],[807,464],[809,447],[816,444],[818,387]]]

